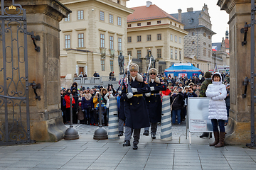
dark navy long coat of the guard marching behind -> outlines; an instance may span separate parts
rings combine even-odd
[[[151,94],[158,94],[158,95],[151,95],[146,97],[146,104],[149,109],[149,120],[150,123],[159,123],[161,121],[161,96],[159,95],[159,91],[166,91],[166,85],[161,84],[158,77],[152,83],[151,79],[149,79],[149,86],[154,86],[154,91],[151,91]]]

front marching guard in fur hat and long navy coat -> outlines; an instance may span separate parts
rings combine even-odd
[[[129,66],[130,76],[129,84],[132,87],[132,93],[127,93],[127,86],[122,87],[124,94],[124,115],[125,115],[125,131],[124,131],[124,147],[130,146],[130,137],[133,131],[133,149],[138,149],[139,135],[141,128],[149,127],[149,113],[146,108],[146,101],[143,94],[150,92],[150,86],[146,80],[138,74],[139,66],[135,63]],[[127,81],[126,81],[127,82]],[[127,94],[125,94],[127,93]],[[129,130],[131,129],[131,130]]]

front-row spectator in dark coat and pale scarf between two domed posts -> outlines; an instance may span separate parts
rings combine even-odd
[[[85,124],[89,125],[94,123],[92,111],[94,110],[93,98],[89,90],[85,91],[82,97],[82,112],[85,113]]]

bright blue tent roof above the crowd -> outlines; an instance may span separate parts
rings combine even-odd
[[[201,69],[194,67],[191,63],[174,63],[164,72],[201,72]]]

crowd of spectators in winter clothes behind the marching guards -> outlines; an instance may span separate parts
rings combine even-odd
[[[112,78],[113,72],[110,73]],[[79,76],[82,76],[80,74]],[[86,74],[85,74],[86,76]],[[95,72],[94,77],[100,76]],[[146,74],[142,74],[146,78]],[[165,77],[164,74],[159,74],[158,77],[166,84],[166,91],[160,91],[161,96],[170,96],[170,104],[172,108],[171,118],[172,123],[180,125],[186,118],[186,106],[188,97],[198,97],[200,94],[201,84],[205,80],[202,72],[198,77]],[[229,91],[229,75],[222,74],[223,84],[228,85]],[[70,89],[62,88],[60,90],[61,96],[61,110],[63,112],[63,123],[70,123],[70,94],[73,95],[72,110],[73,123],[84,123],[86,125],[99,125],[99,107],[102,107],[102,125],[108,124],[110,96],[117,96],[117,105],[119,106],[119,94],[114,89],[112,84],[108,84],[105,88],[103,86],[94,86],[91,89],[84,86],[78,88],[78,84],[74,82]],[[99,97],[101,94],[101,101]],[[229,98],[227,106],[229,103]],[[225,123],[226,124],[226,123]]]

